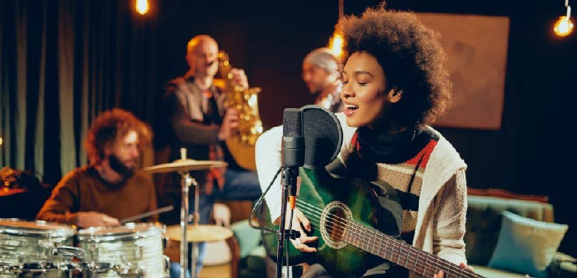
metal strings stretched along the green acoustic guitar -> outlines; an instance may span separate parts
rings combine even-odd
[[[319,211],[322,212],[322,210],[318,207],[315,207],[314,205],[311,205],[307,202],[304,202],[303,200],[297,199],[297,202],[299,202],[303,205],[308,205],[308,207],[311,207],[312,209],[306,208],[306,207],[301,207],[301,209],[303,210],[303,212],[308,212],[311,216],[316,217],[316,221],[318,221],[319,222],[318,225],[320,225],[321,215],[320,215]],[[317,211],[315,212],[314,210],[317,210]],[[333,225],[329,226],[331,229],[331,232],[333,231],[332,230],[333,227],[335,227],[336,231],[341,232],[341,234],[344,235],[347,227],[350,227],[350,225],[352,225],[355,228],[355,230],[360,228],[360,230],[367,230],[370,232],[368,227],[365,227],[365,225],[360,225],[359,223],[356,223],[356,222],[350,222],[348,219],[339,217],[338,215],[334,215],[331,212],[327,213],[326,215],[327,215],[327,217],[326,217],[327,220],[333,220]],[[331,221],[329,221],[329,222],[331,222]],[[336,225],[335,223],[341,223],[341,224],[344,224],[344,226]],[[341,229],[339,229],[339,228],[341,228]],[[361,240],[361,241],[363,241],[364,244],[367,244],[367,246],[369,246],[370,234],[368,232],[365,232],[365,231],[360,231],[360,235],[363,235],[363,238],[360,238],[357,240]],[[367,235],[369,235],[369,236],[367,236]],[[378,235],[378,234],[376,234],[376,235]],[[385,237],[383,237],[383,236],[385,236]],[[461,277],[462,275],[464,275],[465,277],[477,277],[477,276],[471,276],[471,274],[473,274],[473,275],[476,275],[476,274],[469,272],[467,270],[464,270],[464,269],[462,269],[462,268],[460,268],[454,264],[451,264],[451,263],[449,263],[443,259],[440,259],[440,258],[435,258],[435,259],[437,259],[437,264],[440,265],[440,267],[437,267],[434,264],[434,262],[431,262],[431,263],[429,262],[428,254],[427,254],[427,258],[423,258],[424,260],[422,260],[422,259],[420,259],[420,256],[419,256],[419,250],[413,249],[414,247],[410,246],[409,244],[403,244],[402,242],[397,242],[397,240],[390,239],[390,238],[386,237],[386,235],[384,235],[384,234],[380,235],[381,242],[383,242],[383,238],[385,239],[386,242],[389,242],[389,243],[392,242],[393,246],[400,248],[401,250],[403,250],[405,252],[408,251],[407,252],[407,260],[409,262],[414,263],[415,267],[417,266],[418,262],[424,263],[425,264],[425,265],[423,265],[423,267],[425,267],[425,269],[424,269],[425,273],[424,274],[427,274],[427,272],[428,272],[427,270],[431,270],[431,271],[433,271],[433,274],[435,274],[437,272],[436,270],[439,270],[439,269],[442,269],[442,267],[445,267],[446,269],[442,269],[446,272],[445,277],[448,277],[449,273],[452,271],[459,272],[459,274],[458,274],[459,277]],[[376,239],[376,236],[375,236],[375,239]],[[369,242],[367,242],[365,240],[369,240]],[[354,242],[354,238],[353,238],[353,242]],[[380,249],[380,247],[379,247],[379,249]],[[374,248],[373,248],[373,251],[374,251]],[[384,251],[385,252],[387,251],[386,248]],[[394,253],[394,251],[393,251],[393,253]],[[415,253],[416,253],[416,259],[415,259],[415,257],[412,257],[412,255],[415,255]],[[393,262],[393,256],[391,255],[390,257],[391,257],[391,262]],[[399,259],[400,259],[400,257],[399,257]],[[397,260],[397,262],[399,262],[399,261]],[[430,269],[427,269],[427,265],[430,266]],[[433,270],[432,267],[435,267],[435,270]]]

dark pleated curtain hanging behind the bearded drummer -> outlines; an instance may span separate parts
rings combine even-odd
[[[157,13],[133,6],[1,1],[0,165],[55,183],[87,163],[83,141],[101,111],[124,108],[152,122]]]

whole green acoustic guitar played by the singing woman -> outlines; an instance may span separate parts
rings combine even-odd
[[[351,277],[387,260],[423,277],[433,277],[440,270],[445,277],[482,277],[393,236],[399,234],[402,220],[390,220],[402,215],[402,209],[383,209],[375,185],[360,179],[335,178],[324,168],[301,168],[299,175],[296,207],[311,221],[307,234],[317,236],[318,241],[308,245],[316,247],[317,252],[300,252],[287,244],[289,264],[319,263],[335,276]],[[261,225],[279,229],[266,208],[261,208]],[[276,234],[264,233],[263,244],[269,257],[276,260]]]

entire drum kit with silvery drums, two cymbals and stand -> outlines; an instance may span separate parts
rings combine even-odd
[[[219,226],[199,225],[199,187],[189,175],[192,170],[225,167],[227,163],[191,160],[181,149],[181,159],[142,169],[146,173],[177,172],[182,177],[180,225],[121,221],[114,227],[75,226],[56,222],[0,218],[0,278],[4,277],[169,277],[170,262],[163,254],[165,241],[180,242],[180,269],[187,269],[188,243],[192,262],[198,256],[197,243],[227,240],[232,231]],[[194,190],[194,220],[188,224],[188,192]],[[160,209],[155,213],[165,211]],[[147,212],[143,215],[150,215]],[[130,217],[140,219],[142,215]],[[186,239],[186,240],[181,240]],[[76,245],[76,247],[75,247]],[[196,264],[191,272],[196,274]],[[184,278],[186,272],[181,271]],[[196,277],[196,275],[194,275]]]

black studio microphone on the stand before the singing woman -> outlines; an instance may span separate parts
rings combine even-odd
[[[286,108],[283,113],[283,139],[281,143],[281,163],[286,168],[281,183],[289,186],[288,202],[291,209],[296,205],[296,177],[298,168],[304,165],[305,139],[303,137],[303,111]]]

